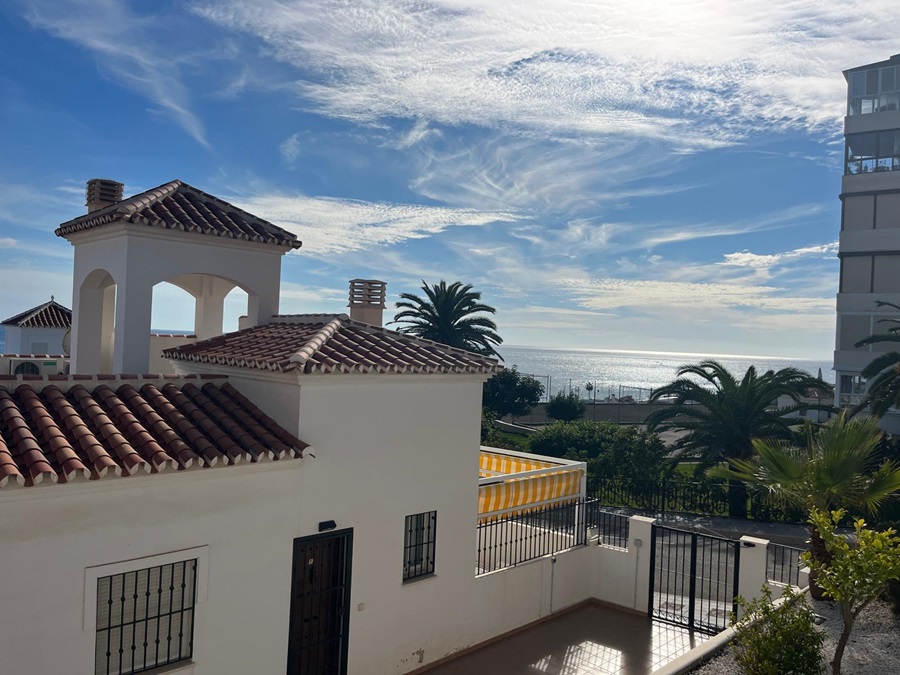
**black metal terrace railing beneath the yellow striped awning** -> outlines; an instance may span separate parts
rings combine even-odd
[[[529,560],[587,543],[593,500],[543,506],[478,524],[478,574],[515,567]]]

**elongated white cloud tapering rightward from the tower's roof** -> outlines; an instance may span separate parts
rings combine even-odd
[[[422,239],[449,227],[514,222],[523,217],[513,211],[366,202],[298,194],[257,194],[231,201],[295,233],[303,241],[302,251],[313,255],[368,250],[408,239]]]

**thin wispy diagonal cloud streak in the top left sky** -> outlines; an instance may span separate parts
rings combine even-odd
[[[88,50],[103,73],[153,101],[195,141],[208,145],[182,81],[190,48],[174,44],[173,26],[183,25],[186,17],[138,14],[118,0],[28,0],[22,14],[34,27]]]

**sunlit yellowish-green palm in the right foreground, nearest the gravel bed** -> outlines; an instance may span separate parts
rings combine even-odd
[[[711,475],[739,480],[772,497],[801,506],[808,512],[837,509],[878,512],[881,504],[900,492],[900,464],[879,464],[881,431],[874,418],[849,419],[844,413],[817,432],[807,423],[806,447],[777,439],[755,439],[753,459],[732,459],[730,468]],[[810,525],[810,553],[830,562],[825,543]]]

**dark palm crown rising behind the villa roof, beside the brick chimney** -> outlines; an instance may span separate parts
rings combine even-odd
[[[406,323],[401,333],[417,335],[451,347],[466,349],[486,356],[500,355],[494,349],[503,339],[496,333],[497,324],[480,315],[495,314],[496,309],[481,302],[481,293],[472,290],[471,284],[460,281],[428,285],[422,281],[425,298],[413,293],[401,293],[398,312],[391,323]],[[474,316],[473,316],[474,315]]]

